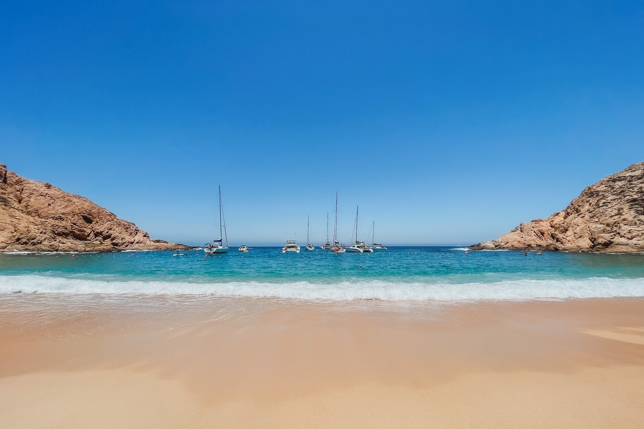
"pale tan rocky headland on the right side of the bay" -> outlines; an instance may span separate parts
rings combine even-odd
[[[644,251],[644,163],[585,188],[562,212],[470,248]]]

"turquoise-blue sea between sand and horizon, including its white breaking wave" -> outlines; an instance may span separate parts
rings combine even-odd
[[[393,247],[0,254],[0,292],[462,300],[644,296],[644,255]]]

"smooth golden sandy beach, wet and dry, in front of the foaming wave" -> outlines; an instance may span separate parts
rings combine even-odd
[[[0,428],[641,427],[644,298],[0,298]]]

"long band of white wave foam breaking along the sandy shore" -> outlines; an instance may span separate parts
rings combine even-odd
[[[593,277],[583,280],[504,280],[489,283],[403,283],[384,281],[227,282],[105,281],[38,275],[0,276],[0,293],[109,293],[221,295],[304,300],[513,300],[537,298],[644,297],[644,278]]]

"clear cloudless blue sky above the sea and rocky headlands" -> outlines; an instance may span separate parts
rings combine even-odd
[[[8,2],[0,162],[153,237],[471,244],[644,161],[641,1]]]

